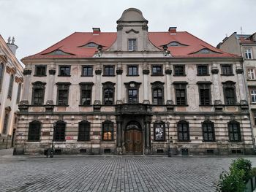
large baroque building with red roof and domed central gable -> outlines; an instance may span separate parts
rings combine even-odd
[[[138,9],[22,61],[15,154],[254,153],[242,58]]]

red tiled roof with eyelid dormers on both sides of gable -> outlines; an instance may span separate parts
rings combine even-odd
[[[201,39],[189,34],[188,32],[177,32],[170,34],[169,32],[148,32],[148,39],[153,45],[162,50],[162,45],[167,45],[170,42],[178,42],[181,47],[168,47],[170,54],[178,58],[200,58],[200,57],[238,57],[230,53],[225,53],[204,42]],[[94,42],[97,45],[102,45],[103,50],[107,50],[116,41],[116,32],[100,32],[98,35],[90,32],[75,32],[69,37],[62,39],[60,42],[43,50],[35,55],[30,55],[26,58],[91,58],[97,51],[97,47],[81,47]],[[202,49],[211,50],[211,53],[197,53]],[[55,50],[61,50],[67,55],[49,55]]]

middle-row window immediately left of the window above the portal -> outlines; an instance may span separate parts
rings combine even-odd
[[[103,82],[103,104],[114,104],[115,83]]]

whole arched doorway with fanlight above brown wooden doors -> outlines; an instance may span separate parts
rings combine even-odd
[[[143,153],[143,137],[140,123],[137,121],[127,123],[124,141],[127,154],[141,155]]]

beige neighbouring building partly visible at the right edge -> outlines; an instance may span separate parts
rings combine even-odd
[[[225,37],[217,46],[228,53],[234,53],[244,58],[244,78],[249,101],[250,118],[256,138],[256,33],[237,34],[234,32],[230,37]]]

